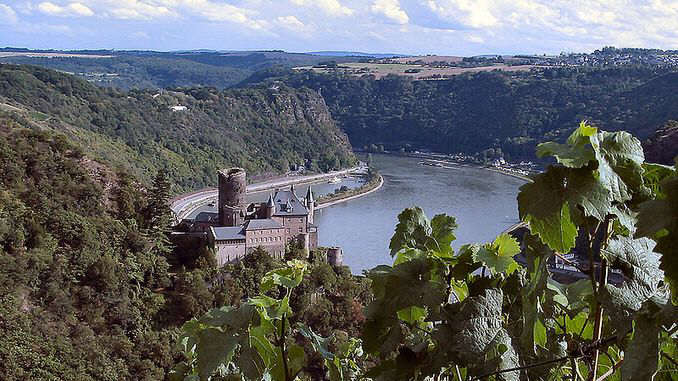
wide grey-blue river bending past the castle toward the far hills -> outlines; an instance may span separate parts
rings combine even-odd
[[[445,213],[457,218],[455,248],[494,239],[518,222],[516,196],[521,179],[480,169],[424,166],[421,159],[373,155],[384,176],[377,192],[319,210],[315,223],[321,246],[340,246],[353,273],[391,264],[389,241],[398,214],[421,207],[429,218]]]

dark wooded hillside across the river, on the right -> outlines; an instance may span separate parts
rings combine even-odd
[[[469,154],[501,148],[511,158],[533,159],[536,142],[564,139],[581,120],[646,138],[678,118],[678,73],[650,67],[497,71],[438,81],[270,75],[322,92],[356,147]]]

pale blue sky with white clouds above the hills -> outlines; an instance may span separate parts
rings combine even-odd
[[[678,0],[0,0],[0,46],[463,56],[678,49]]]

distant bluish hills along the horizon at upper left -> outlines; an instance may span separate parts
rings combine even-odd
[[[0,49],[0,63],[27,64],[59,70],[99,86],[120,89],[166,87],[232,87],[253,73],[281,66],[348,62],[355,57],[323,56],[284,51],[176,52],[119,50]]]

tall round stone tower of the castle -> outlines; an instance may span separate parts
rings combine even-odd
[[[247,174],[242,168],[219,171],[219,224],[238,226],[245,215]]]

